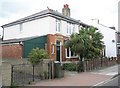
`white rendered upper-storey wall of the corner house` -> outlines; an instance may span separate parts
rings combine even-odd
[[[64,36],[70,35],[70,33],[67,33],[68,22],[64,20],[60,20],[60,32],[56,32],[56,20],[56,18],[48,16],[22,24],[5,27],[3,40],[56,33],[60,33]],[[71,24],[71,27],[72,26],[74,26],[74,32],[77,32],[78,24]]]

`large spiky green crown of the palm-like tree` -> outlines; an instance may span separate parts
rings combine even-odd
[[[65,43],[65,47],[70,47],[71,51],[79,55],[81,61],[83,58],[93,59],[100,56],[104,47],[102,39],[103,35],[94,27],[81,27],[79,33],[70,36],[70,39]]]

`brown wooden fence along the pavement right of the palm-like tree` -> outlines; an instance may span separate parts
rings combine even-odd
[[[100,58],[100,59],[88,59],[84,63],[84,71],[91,71],[95,69],[101,69],[117,64],[116,58]]]

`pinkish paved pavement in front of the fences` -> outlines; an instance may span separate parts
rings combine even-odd
[[[30,86],[96,86],[118,74],[118,65],[92,72],[65,72],[60,79],[44,80]]]

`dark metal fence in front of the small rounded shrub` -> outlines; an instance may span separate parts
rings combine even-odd
[[[12,65],[11,81],[14,85],[26,85],[32,82],[53,78],[53,62],[42,62],[38,65]]]

